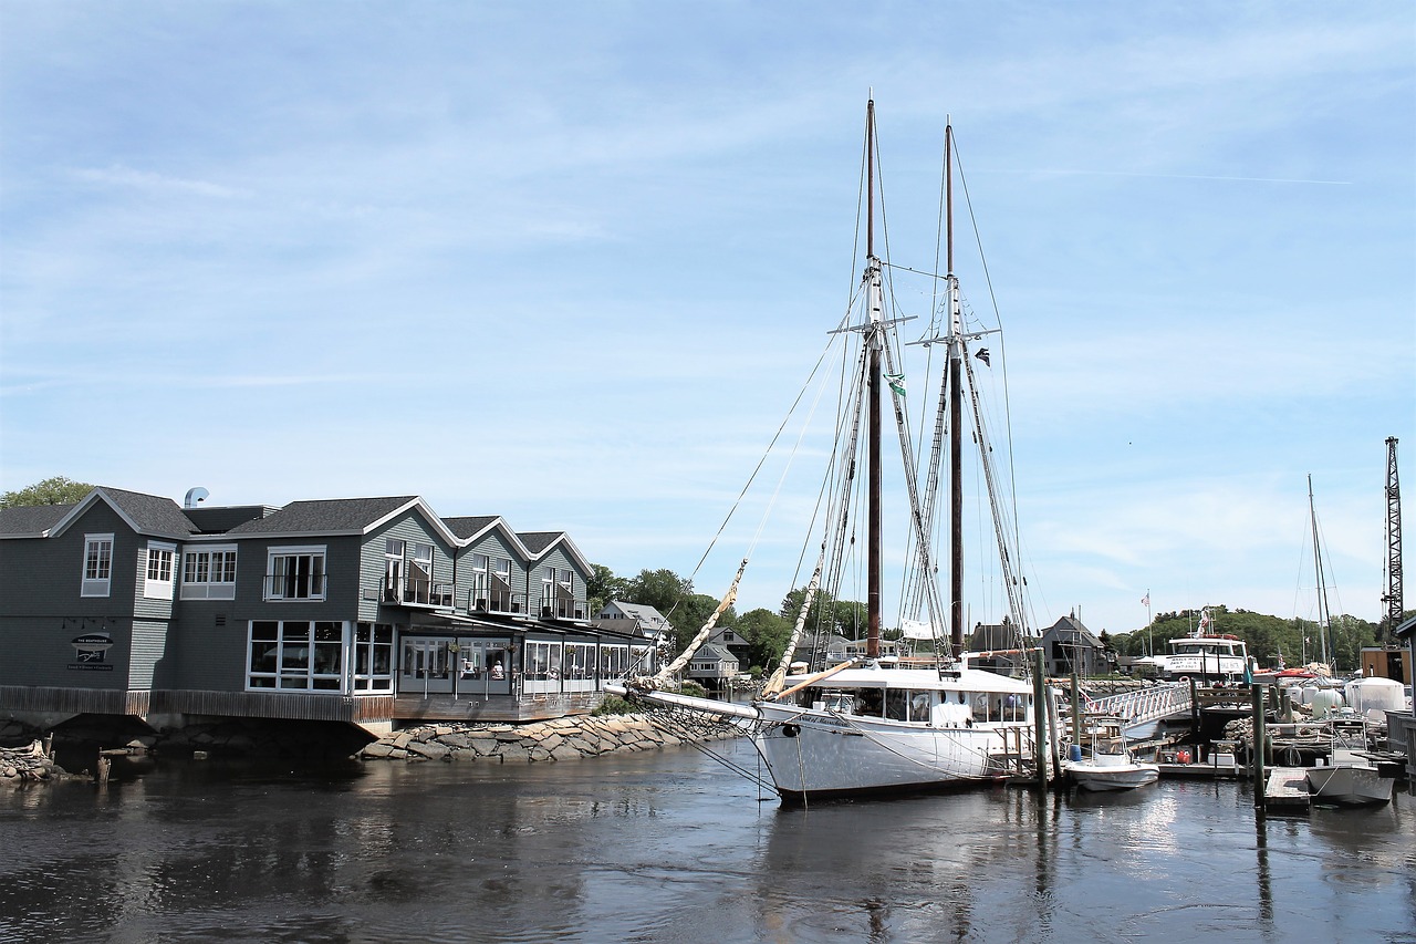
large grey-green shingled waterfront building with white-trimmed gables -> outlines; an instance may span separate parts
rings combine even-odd
[[[0,510],[0,710],[347,721],[588,712],[650,658],[564,532],[418,496]]]

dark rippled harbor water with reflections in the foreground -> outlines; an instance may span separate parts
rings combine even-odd
[[[687,747],[115,777],[0,792],[0,941],[1416,941],[1402,792],[1300,818],[1171,780],[803,809]]]

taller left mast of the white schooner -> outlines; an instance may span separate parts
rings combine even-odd
[[[865,303],[869,308],[869,325],[865,343],[869,350],[869,523],[868,523],[868,578],[865,591],[865,658],[881,655],[881,570],[884,567],[881,537],[881,318],[884,292],[881,289],[881,264],[875,258],[875,99],[865,105]]]

